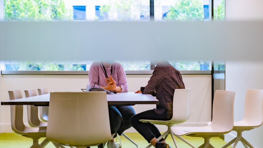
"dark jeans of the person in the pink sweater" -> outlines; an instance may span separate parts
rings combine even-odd
[[[132,127],[130,118],[135,115],[135,110],[132,106],[123,105],[109,105],[109,116],[110,116],[110,131],[111,134],[117,133],[121,135],[126,129]]]

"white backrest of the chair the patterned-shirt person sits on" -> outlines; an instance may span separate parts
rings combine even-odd
[[[183,123],[190,116],[190,91],[187,89],[175,89],[173,98],[173,116],[172,123]]]

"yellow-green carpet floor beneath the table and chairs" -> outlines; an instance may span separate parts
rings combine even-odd
[[[147,141],[139,134],[139,133],[125,133],[128,137],[130,137],[135,143],[138,144],[139,148],[145,148],[148,146]],[[203,138],[199,137],[189,137],[189,136],[182,136],[187,141],[192,143],[194,146],[199,147],[204,143]],[[123,136],[120,136],[121,138],[121,144],[123,148],[136,148],[134,144],[132,144],[130,141],[128,141]],[[39,143],[41,143],[45,138],[39,139]],[[175,140],[177,142],[177,145],[179,148],[191,148],[186,143],[182,142],[180,139],[175,137]],[[117,143],[120,143],[119,139],[115,139]],[[173,140],[171,136],[169,135],[166,139],[166,143],[168,143],[172,148],[175,148],[175,145],[173,143]],[[219,137],[213,137],[210,139],[210,143],[215,148],[221,148],[226,144],[226,142],[219,138]],[[0,134],[0,147],[2,148],[30,148],[30,146],[33,144],[33,140],[30,138],[26,138],[20,135],[16,135],[14,133],[1,133]],[[66,147],[66,146],[65,146]],[[91,148],[96,148],[97,146],[92,146]],[[231,148],[232,146],[229,146]],[[52,143],[49,143],[45,148],[55,148],[55,146]],[[107,148],[105,146],[105,148]],[[152,147],[153,148],[153,147]]]

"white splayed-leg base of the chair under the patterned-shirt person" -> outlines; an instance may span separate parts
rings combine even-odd
[[[178,148],[177,146],[177,143],[175,141],[175,137],[173,135],[175,135],[173,133],[173,131],[171,130],[171,128],[168,127],[168,130],[166,132],[164,132],[160,137],[157,138],[157,140],[159,141],[160,139],[164,138],[164,140],[168,137],[168,135],[171,135],[173,141],[174,141],[174,144],[175,144],[175,147]],[[186,139],[184,139],[182,136],[178,136],[178,135],[175,135],[177,138],[179,138],[180,140],[182,140],[183,142],[185,142],[186,144],[188,144],[189,146],[193,147],[193,148],[196,148],[193,144],[189,143]],[[146,148],[150,148],[151,146],[153,146],[152,144],[149,144]]]

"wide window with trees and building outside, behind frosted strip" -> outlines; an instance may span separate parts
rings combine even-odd
[[[225,19],[225,0],[213,0],[214,20]],[[209,0],[4,0],[5,21],[207,21]],[[154,12],[150,14],[151,9]],[[1,8],[0,8],[1,9]],[[89,70],[93,61],[5,61],[5,70]],[[152,70],[150,60],[117,61],[124,70]],[[178,70],[211,70],[211,61],[170,61]],[[214,63],[222,69],[224,64]],[[153,68],[153,67],[152,67]]]

